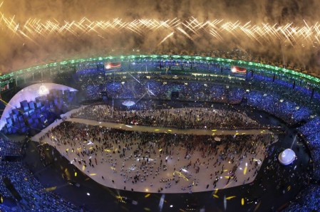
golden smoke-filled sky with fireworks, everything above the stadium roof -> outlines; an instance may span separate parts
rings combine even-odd
[[[314,0],[4,1],[0,70],[137,48],[140,53],[192,53],[237,47],[269,61],[282,58],[283,50],[286,62],[297,61],[319,74],[319,9],[320,1]],[[274,31],[282,26],[281,39],[268,35],[267,27],[259,31],[263,23]]]

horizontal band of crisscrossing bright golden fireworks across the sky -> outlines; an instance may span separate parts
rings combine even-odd
[[[121,18],[91,21],[83,17],[80,21],[63,21],[63,23],[54,18],[49,21],[29,18],[23,23],[17,23],[15,16],[8,18],[0,12],[0,27],[2,31],[9,31],[15,36],[27,38],[33,42],[36,42],[38,38],[48,38],[50,36],[78,37],[96,33],[100,38],[105,39],[105,35],[115,33],[125,32],[138,36],[148,36],[148,33],[157,31],[167,35],[162,38],[158,46],[173,34],[180,34],[190,40],[207,34],[216,41],[224,41],[231,36],[238,39],[247,37],[260,44],[274,41],[287,43],[291,46],[318,46],[320,43],[319,23],[309,26],[306,21],[302,26],[295,26],[294,23],[279,26],[270,23],[252,24],[251,21],[247,23],[241,23],[240,21],[232,23],[219,19],[199,21],[194,17],[187,20],[173,18],[166,20],[135,19],[133,21],[123,21]]]

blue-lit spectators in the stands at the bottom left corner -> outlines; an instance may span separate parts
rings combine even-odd
[[[0,196],[4,200],[0,210],[4,211],[78,211],[72,203],[63,200],[41,185],[21,161],[23,142],[0,139]],[[17,157],[14,160],[6,157]],[[6,182],[6,183],[5,183]],[[17,191],[13,191],[11,184]],[[16,204],[6,206],[6,199]]]

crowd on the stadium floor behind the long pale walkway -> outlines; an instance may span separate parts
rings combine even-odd
[[[179,108],[165,110],[115,110],[109,105],[89,105],[71,115],[73,118],[178,129],[262,129],[244,112],[213,108]]]

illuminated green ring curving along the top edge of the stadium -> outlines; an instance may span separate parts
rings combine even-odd
[[[274,74],[286,74],[291,76],[294,79],[301,79],[306,80],[308,83],[319,87],[320,79],[313,77],[311,75],[307,75],[304,73],[300,73],[295,70],[290,70],[287,68],[279,68],[274,65],[267,65],[262,63],[254,63],[248,62],[244,60],[233,60],[233,59],[226,59],[226,58],[212,58],[212,57],[202,57],[202,56],[190,56],[190,55],[119,55],[119,56],[108,56],[108,57],[98,57],[98,58],[83,58],[77,60],[66,60],[57,63],[48,63],[46,65],[38,65],[33,66],[31,68],[17,70],[12,73],[8,73],[5,75],[0,76],[0,80],[2,83],[9,83],[14,80],[14,78],[18,78],[22,75],[27,75],[32,72],[36,71],[49,71],[49,70],[60,70],[61,67],[68,67],[68,65],[85,65],[86,63],[89,64],[101,64],[105,65],[105,68],[112,68],[112,66],[108,63],[115,63],[118,64],[121,61],[128,61],[128,60],[181,60],[185,62],[198,62],[198,63],[218,63],[220,65],[237,65],[241,68],[247,68],[247,70],[254,70],[259,72],[269,72]],[[115,68],[118,68],[116,65]]]

